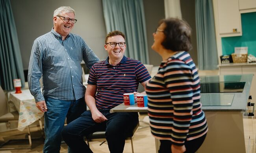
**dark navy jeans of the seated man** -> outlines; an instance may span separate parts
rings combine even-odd
[[[83,136],[95,131],[106,130],[106,139],[110,153],[122,153],[125,133],[132,131],[139,122],[138,113],[109,113],[109,109],[100,110],[108,118],[102,123],[94,122],[91,112],[85,111],[79,118],[63,128],[61,135],[70,147],[70,153],[92,153]]]

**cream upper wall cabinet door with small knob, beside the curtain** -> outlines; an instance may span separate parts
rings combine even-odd
[[[219,35],[241,36],[241,15],[238,0],[217,0]]]

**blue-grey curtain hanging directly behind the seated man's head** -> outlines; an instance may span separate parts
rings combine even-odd
[[[143,0],[102,0],[107,33],[126,35],[125,55],[149,64]]]

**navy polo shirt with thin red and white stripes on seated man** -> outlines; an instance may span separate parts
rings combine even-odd
[[[138,60],[124,56],[113,66],[105,61],[95,63],[89,73],[88,84],[97,86],[96,107],[111,109],[124,102],[124,93],[137,91],[139,83],[151,78],[146,67]]]

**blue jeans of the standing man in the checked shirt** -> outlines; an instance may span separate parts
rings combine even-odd
[[[47,112],[45,112],[45,144],[44,153],[59,153],[61,145],[61,130],[65,118],[67,124],[86,111],[84,98],[78,100],[58,100],[45,97]]]

